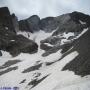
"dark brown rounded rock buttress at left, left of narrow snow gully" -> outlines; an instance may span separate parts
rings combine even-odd
[[[0,50],[10,52],[12,56],[23,53],[35,53],[38,50],[38,45],[22,35],[16,35],[7,30],[0,30]]]

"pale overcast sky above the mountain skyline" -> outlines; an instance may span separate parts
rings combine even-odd
[[[90,0],[0,0],[19,19],[37,14],[40,18],[58,16],[72,11],[90,14]]]

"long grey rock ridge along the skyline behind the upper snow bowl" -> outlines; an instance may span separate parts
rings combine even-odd
[[[81,22],[86,22],[86,24],[81,25]],[[37,15],[33,15],[30,18],[19,21],[19,29],[21,31],[35,32],[43,30],[52,32],[56,30],[53,35],[64,31],[79,32],[87,26],[90,26],[90,17],[80,12],[72,12],[57,17],[46,17],[41,20]]]

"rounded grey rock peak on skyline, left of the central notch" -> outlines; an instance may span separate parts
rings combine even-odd
[[[19,29],[21,31],[35,32],[39,30],[40,18],[37,15],[33,15],[28,19],[19,21]]]

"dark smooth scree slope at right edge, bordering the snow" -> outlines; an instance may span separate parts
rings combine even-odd
[[[74,71],[77,75],[85,76],[90,74],[90,29],[73,45],[70,52],[77,51],[79,55],[71,62],[69,62],[63,70],[69,69]],[[69,53],[70,53],[69,52]]]

